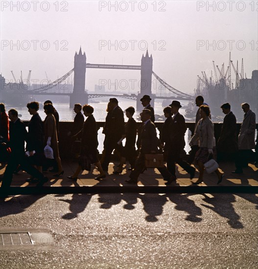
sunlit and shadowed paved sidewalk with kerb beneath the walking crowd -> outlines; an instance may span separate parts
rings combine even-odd
[[[203,192],[252,192],[258,193],[258,168],[249,164],[244,168],[241,175],[232,174],[235,169],[234,163],[220,163],[220,169],[225,173],[222,182],[217,185],[217,176],[215,173],[207,174],[205,172],[204,182],[199,185],[192,185],[192,182],[198,178],[196,170],[195,178],[190,180],[189,175],[180,166],[177,166],[177,181],[166,186],[161,174],[157,169],[148,168],[140,175],[138,184],[129,184],[125,179],[129,178],[130,171],[128,166],[124,166],[121,175],[113,174],[114,168],[117,169],[117,163],[110,164],[107,177],[105,179],[95,180],[99,174],[92,166],[92,171],[83,171],[76,181],[67,179],[76,170],[77,162],[74,160],[63,160],[64,175],[60,178],[53,177],[54,173],[44,173],[49,181],[43,187],[36,187],[36,183],[26,182],[29,175],[20,171],[14,175],[10,194],[31,194],[31,193],[94,193],[94,192],[180,192],[180,193],[203,193]],[[0,175],[4,172],[4,167],[0,169]],[[0,183],[1,184],[1,183]]]

